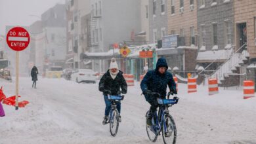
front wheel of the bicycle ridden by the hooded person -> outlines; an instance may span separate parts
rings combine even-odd
[[[162,126],[162,135],[163,135],[163,142],[165,144],[175,144],[176,137],[177,137],[177,130],[175,126],[175,122],[171,115],[165,115],[164,117],[165,126]]]

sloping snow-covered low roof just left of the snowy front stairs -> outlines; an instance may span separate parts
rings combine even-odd
[[[230,57],[233,50],[207,50],[205,52],[198,52],[196,60],[226,60]]]

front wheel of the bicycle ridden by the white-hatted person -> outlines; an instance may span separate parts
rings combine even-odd
[[[119,113],[116,109],[114,109],[112,113],[110,113],[110,134],[112,136],[116,136],[117,134],[118,126],[119,126],[118,118],[119,118]]]

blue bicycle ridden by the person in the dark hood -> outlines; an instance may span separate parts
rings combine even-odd
[[[146,122],[146,132],[150,141],[155,142],[158,139],[158,135],[162,132],[163,142],[165,144],[175,144],[177,137],[177,130],[175,121],[169,113],[169,107],[178,103],[179,98],[175,96],[173,99],[169,99],[171,93],[168,94],[167,99],[161,98],[161,95],[154,93],[158,96],[158,104],[160,105],[159,111],[154,112],[152,117],[152,126],[148,126]],[[149,111],[146,113],[146,121],[148,119]]]

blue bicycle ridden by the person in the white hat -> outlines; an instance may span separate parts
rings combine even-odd
[[[124,96],[117,95],[117,96],[112,96],[108,95],[108,100],[111,102],[111,109],[110,109],[110,114],[108,115],[108,122],[110,123],[110,134],[112,136],[116,136],[118,127],[119,127],[119,113],[117,111],[117,101],[123,100]]]

